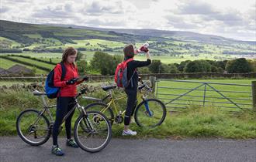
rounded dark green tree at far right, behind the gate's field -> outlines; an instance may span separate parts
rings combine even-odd
[[[244,58],[228,61],[225,69],[227,73],[250,73],[253,71],[251,64]]]

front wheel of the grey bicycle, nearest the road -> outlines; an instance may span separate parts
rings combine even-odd
[[[86,126],[85,130],[80,125]],[[95,153],[105,148],[112,137],[111,124],[107,117],[97,111],[88,111],[74,123],[74,140],[85,151]]]

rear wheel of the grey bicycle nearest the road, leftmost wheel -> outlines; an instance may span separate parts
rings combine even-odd
[[[16,120],[19,137],[32,146],[46,143],[50,138],[50,122],[38,110],[24,110]]]

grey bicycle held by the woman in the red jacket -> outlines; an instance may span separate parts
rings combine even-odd
[[[85,151],[95,153],[105,148],[111,137],[112,129],[108,118],[97,111],[86,111],[84,106],[78,103],[78,97],[86,93],[87,89],[81,89],[81,92],[74,97],[74,107],[64,116],[62,123],[75,110],[78,109],[80,115],[74,123],[74,140],[78,146]],[[16,120],[16,130],[19,137],[32,146],[39,146],[46,143],[52,133],[54,119],[50,113],[50,108],[56,105],[48,106],[44,96],[46,93],[33,91],[34,96],[41,96],[43,100],[43,110],[28,109],[22,111]],[[48,120],[47,113],[50,116]],[[60,127],[59,133],[62,127]]]

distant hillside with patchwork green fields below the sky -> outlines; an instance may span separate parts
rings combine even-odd
[[[62,52],[67,46],[80,51],[122,53],[126,44],[141,46],[150,42],[153,56],[181,59],[202,55],[203,58],[226,59],[230,55],[256,55],[255,42],[227,39],[195,32],[154,29],[100,29],[78,25],[36,25],[0,20],[0,49],[10,52]],[[182,56],[182,55],[187,55]],[[224,56],[223,56],[224,55]],[[236,56],[236,57],[237,57]]]

